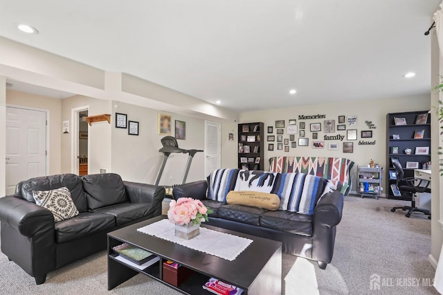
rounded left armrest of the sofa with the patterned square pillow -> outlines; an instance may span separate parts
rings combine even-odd
[[[12,195],[0,198],[0,221],[28,238],[55,231],[51,211]]]

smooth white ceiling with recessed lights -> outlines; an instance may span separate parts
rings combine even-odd
[[[0,35],[221,107],[275,109],[429,93],[439,3],[0,0]]]

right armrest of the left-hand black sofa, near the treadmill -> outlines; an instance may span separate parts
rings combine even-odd
[[[146,203],[154,208],[154,215],[161,215],[161,202],[165,198],[165,188],[153,184],[141,184],[138,182],[123,181],[129,202]]]

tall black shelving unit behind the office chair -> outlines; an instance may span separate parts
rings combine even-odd
[[[395,196],[390,188],[396,181],[392,159],[399,161],[405,177],[414,177],[414,169],[426,169],[424,163],[431,161],[431,114],[428,110],[390,113],[386,116],[386,128],[386,196],[388,199],[410,200],[412,195]],[[415,138],[421,134],[421,138]],[[423,153],[426,147],[428,152]],[[405,152],[407,148],[410,154]]]

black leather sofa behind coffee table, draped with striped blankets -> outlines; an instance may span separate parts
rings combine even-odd
[[[268,211],[207,199],[207,181],[174,186],[174,199],[192,197],[213,209],[206,224],[282,242],[284,253],[318,262],[325,269],[332,260],[336,225],[341,221],[343,195],[334,190],[321,197],[313,215]]]

